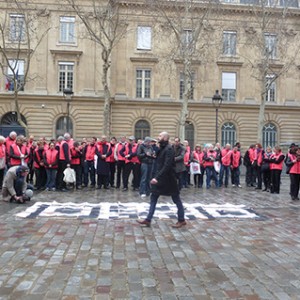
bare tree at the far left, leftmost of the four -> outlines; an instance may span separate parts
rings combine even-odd
[[[29,76],[30,64],[36,49],[49,31],[41,30],[37,16],[47,16],[46,10],[38,10],[27,1],[5,0],[0,14],[0,68],[6,77],[6,89],[12,92],[18,123],[28,127],[21,118],[19,92],[26,83],[34,80]]]

